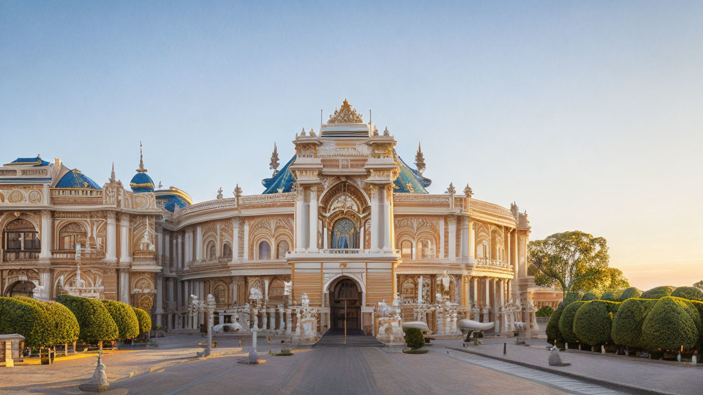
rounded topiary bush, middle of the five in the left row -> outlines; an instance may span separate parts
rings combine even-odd
[[[96,344],[117,339],[117,324],[108,309],[96,299],[60,295],[57,302],[66,306],[78,320],[78,338],[86,343]]]

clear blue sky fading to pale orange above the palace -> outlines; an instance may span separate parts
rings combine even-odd
[[[413,162],[607,238],[638,287],[703,279],[703,3],[0,2],[0,160],[260,193],[346,97]]]

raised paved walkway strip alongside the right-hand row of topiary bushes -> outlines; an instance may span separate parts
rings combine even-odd
[[[562,361],[572,363],[571,366],[549,366],[549,350],[546,342],[532,342],[532,347],[514,344],[508,340],[508,354],[503,355],[503,341],[486,342],[481,346],[469,346],[463,349],[458,342],[435,342],[433,347],[453,347],[463,349],[478,355],[505,358],[510,361],[527,363],[536,368],[554,372],[562,372],[575,377],[604,380],[645,391],[656,391],[662,394],[699,395],[703,393],[703,370],[695,365],[666,365],[638,360],[637,358],[610,358],[600,354],[583,352],[560,353]],[[543,344],[542,344],[543,343]]]

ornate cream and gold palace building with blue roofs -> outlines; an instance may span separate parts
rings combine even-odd
[[[5,164],[1,293],[117,299],[167,330],[205,320],[188,314],[191,294],[212,294],[230,322],[260,290],[257,325],[287,332],[303,295],[318,330],[339,328],[346,307],[350,328],[374,332],[378,303],[396,294],[406,320],[426,320],[441,299],[500,332],[506,312],[529,305],[529,223],[517,205],[477,200],[468,186],[427,193],[420,148],[413,169],[347,101],[293,143],[280,170],[274,150],[262,194],[237,186],[197,204],[155,188],[142,161],[130,190],[114,171],[101,187],[58,159]]]

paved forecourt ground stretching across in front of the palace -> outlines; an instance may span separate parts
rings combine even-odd
[[[198,335],[160,339],[157,349],[106,353],[110,392],[113,394],[638,394],[578,377],[536,370],[486,356],[515,358],[546,365],[547,351],[540,347],[508,345],[504,339],[462,349],[460,341],[437,341],[423,355],[387,354],[378,348],[316,348],[293,356],[263,356],[265,363],[238,361],[250,349],[243,338],[219,339],[217,353],[195,358]],[[262,345],[263,343],[263,345]],[[494,343],[494,344],[491,344]],[[280,349],[280,341],[265,337],[259,351]],[[456,348],[456,349],[455,349]],[[463,349],[462,349],[463,350]],[[485,354],[482,356],[479,354]],[[647,361],[562,353],[575,375],[662,391],[699,394],[703,386],[697,367],[671,366]],[[95,357],[72,358],[52,366],[19,365],[0,369],[0,394],[81,394],[78,384],[93,370]],[[130,377],[133,376],[133,377]]]

